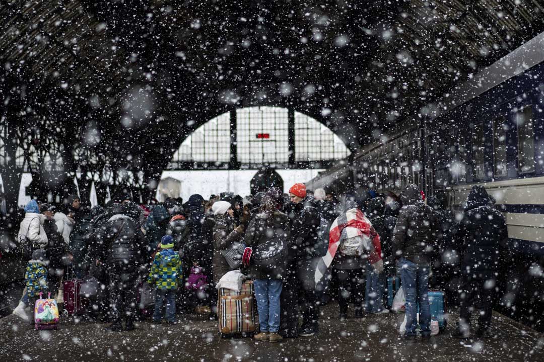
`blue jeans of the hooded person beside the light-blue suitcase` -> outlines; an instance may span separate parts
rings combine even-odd
[[[397,268],[400,270],[400,280],[406,297],[406,335],[416,335],[418,304],[421,334],[430,335],[429,265],[400,258]]]

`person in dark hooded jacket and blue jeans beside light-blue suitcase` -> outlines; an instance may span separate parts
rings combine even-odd
[[[393,255],[400,269],[406,296],[406,339],[416,338],[416,312],[424,339],[431,335],[429,306],[429,269],[432,253],[440,237],[436,215],[423,203],[419,188],[410,183],[401,195],[400,209],[393,239]]]

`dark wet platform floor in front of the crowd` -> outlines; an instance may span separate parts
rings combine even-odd
[[[175,326],[140,322],[135,331],[119,333],[77,319],[64,319],[57,331],[36,332],[9,315],[0,319],[0,361],[544,361],[544,335],[500,314],[493,316],[494,339],[460,341],[446,332],[429,342],[407,342],[397,333],[403,314],[341,322],[337,308],[323,308],[317,336],[278,344],[220,339],[216,322],[199,315]],[[450,321],[456,317],[450,313]]]

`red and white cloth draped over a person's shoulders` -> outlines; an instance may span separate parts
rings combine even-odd
[[[368,261],[374,269],[382,268],[380,236],[362,211],[353,208],[339,215],[329,229],[329,249],[327,254],[317,261],[314,272],[316,285],[331,265],[340,246],[340,241],[356,236],[366,236],[363,240],[368,242],[368,245],[364,245],[364,249],[368,250]]]

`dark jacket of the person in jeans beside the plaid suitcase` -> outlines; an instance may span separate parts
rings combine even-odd
[[[265,199],[267,199],[267,196],[265,196]],[[264,243],[282,240],[285,252],[279,252],[277,255],[280,257],[270,258],[270,262],[267,264],[252,265],[250,274],[254,279],[280,279],[285,276],[287,262],[285,255],[289,247],[289,239],[289,218],[286,214],[264,209],[255,214],[245,233],[245,245],[256,250],[258,246]]]

